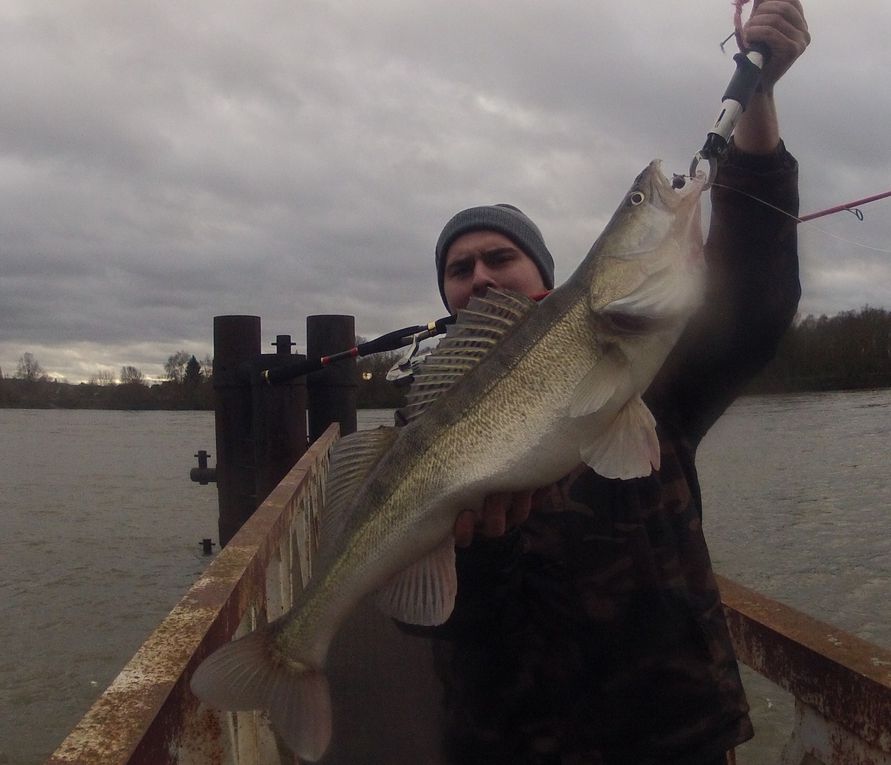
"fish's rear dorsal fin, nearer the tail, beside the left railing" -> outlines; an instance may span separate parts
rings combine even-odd
[[[382,427],[341,438],[331,450],[320,546],[340,538],[349,516],[347,509],[371,469],[396,439],[398,430]]]

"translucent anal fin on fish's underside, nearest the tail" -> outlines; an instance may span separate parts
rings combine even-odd
[[[398,574],[377,593],[377,605],[407,624],[442,624],[455,607],[458,575],[451,534],[429,555]]]

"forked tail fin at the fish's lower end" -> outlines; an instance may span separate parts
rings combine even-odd
[[[262,709],[300,758],[315,762],[331,739],[331,695],[325,674],[270,650],[258,630],[213,653],[195,670],[191,687],[214,709]]]

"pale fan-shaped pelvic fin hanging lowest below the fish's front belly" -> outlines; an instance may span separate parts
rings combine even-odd
[[[656,419],[640,396],[629,399],[610,423],[579,450],[604,478],[643,478],[659,469]]]

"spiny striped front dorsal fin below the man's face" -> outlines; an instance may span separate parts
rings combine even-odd
[[[517,292],[492,290],[471,298],[458,320],[424,359],[402,410],[406,420],[420,416],[457,380],[473,369],[533,307],[535,301]]]

